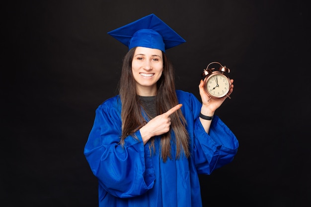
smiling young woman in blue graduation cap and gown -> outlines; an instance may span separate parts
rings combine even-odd
[[[226,97],[210,99],[203,81],[202,103],[175,90],[165,49],[180,36],[154,14],[113,32],[124,34],[129,47],[119,95],[96,109],[84,148],[98,179],[99,206],[201,207],[198,174],[231,162],[238,148],[232,131],[214,115]]]

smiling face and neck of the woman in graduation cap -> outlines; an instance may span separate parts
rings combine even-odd
[[[139,96],[156,96],[156,82],[163,71],[162,51],[137,47],[132,61],[133,77]]]

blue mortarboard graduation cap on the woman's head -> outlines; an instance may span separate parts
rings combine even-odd
[[[145,47],[165,52],[165,49],[186,42],[155,14],[112,30],[108,34],[129,47],[129,50]]]

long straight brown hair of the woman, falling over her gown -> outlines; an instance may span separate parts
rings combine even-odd
[[[119,94],[122,103],[121,119],[122,119],[122,135],[120,143],[124,145],[124,139],[132,135],[143,127],[147,121],[142,115],[139,96],[136,93],[136,82],[132,73],[132,60],[136,48],[132,48],[123,59],[121,78],[119,82]],[[156,95],[156,112],[162,114],[178,104],[175,91],[174,69],[167,56],[162,52],[163,56],[163,74],[157,81]],[[176,157],[182,154],[186,157],[190,156],[189,152],[189,135],[185,128],[186,120],[181,112],[170,115],[171,128],[170,131],[161,135],[161,157],[165,162],[167,157],[171,158],[170,139],[171,131],[175,134],[174,143],[176,145]],[[150,142],[150,147],[154,148],[154,139]]]

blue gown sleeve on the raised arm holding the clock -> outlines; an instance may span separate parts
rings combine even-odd
[[[192,158],[199,174],[211,174],[214,169],[233,160],[239,144],[233,132],[217,115],[214,115],[209,133],[206,133],[199,118],[202,104],[191,93],[188,93],[188,100],[189,107],[184,108],[184,114],[188,116],[188,131],[192,136]]]

